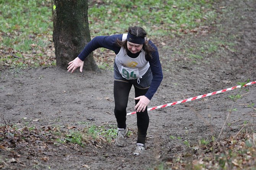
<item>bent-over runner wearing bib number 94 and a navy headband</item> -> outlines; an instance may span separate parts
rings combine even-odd
[[[83,51],[70,63],[68,71],[73,73],[80,67],[83,71],[84,59],[97,48],[107,48],[115,52],[114,62],[114,99],[115,118],[117,119],[117,138],[115,144],[126,145],[126,107],[131,86],[135,90],[135,111],[137,115],[138,138],[134,155],[145,150],[149,116],[147,105],[157,91],[163,79],[162,68],[157,47],[146,37],[141,27],[129,27],[128,33],[97,36],[93,38]]]

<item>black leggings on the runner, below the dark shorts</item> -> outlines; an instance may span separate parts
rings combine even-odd
[[[128,97],[131,90],[131,83],[114,81],[114,98],[115,98],[115,118],[117,119],[117,127],[126,127],[126,107],[128,104]],[[145,95],[147,89],[138,89],[134,87],[135,97]],[[135,100],[135,105],[139,100]],[[149,116],[147,114],[147,107],[143,112],[137,112],[137,126],[138,126],[138,139],[137,143],[142,143],[145,146],[147,128],[149,126]]]

